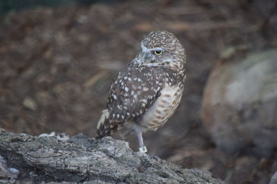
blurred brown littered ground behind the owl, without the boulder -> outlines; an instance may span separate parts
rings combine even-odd
[[[161,29],[185,45],[188,80],[175,115],[145,134],[150,154],[228,183],[268,183],[276,156],[217,150],[199,110],[215,63],[276,47],[276,1],[131,1],[9,12],[0,17],[0,126],[94,136],[111,79],[134,58],[143,35]],[[136,139],[128,141],[136,150]]]

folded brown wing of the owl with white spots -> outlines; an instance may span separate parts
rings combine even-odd
[[[97,137],[116,132],[127,122],[138,123],[159,97],[165,77],[168,77],[166,72],[154,67],[127,68],[118,73],[109,90],[109,113],[98,125]]]

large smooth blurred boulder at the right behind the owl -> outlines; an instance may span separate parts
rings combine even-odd
[[[222,150],[273,154],[277,148],[277,50],[217,65],[204,90],[201,116]]]

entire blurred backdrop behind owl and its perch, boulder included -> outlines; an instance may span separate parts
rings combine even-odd
[[[111,79],[153,30],[186,48],[181,104],[150,155],[227,183],[277,170],[277,1],[0,1],[0,127],[93,137]],[[118,135],[114,137],[118,138]],[[137,151],[135,137],[130,147]]]

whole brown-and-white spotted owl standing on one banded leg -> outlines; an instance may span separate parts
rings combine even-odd
[[[96,138],[132,123],[139,151],[147,152],[142,133],[157,130],[175,112],[184,90],[185,63],[185,50],[172,33],[148,34],[141,41],[139,54],[111,83]]]

